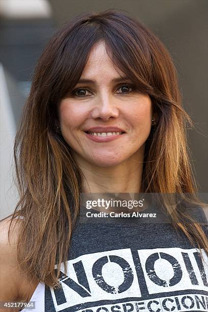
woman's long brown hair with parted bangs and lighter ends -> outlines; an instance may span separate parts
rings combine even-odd
[[[157,112],[157,125],[145,146],[142,190],[196,193],[185,131],[191,121],[181,106],[177,75],[167,49],[141,22],[122,11],[75,17],[43,51],[14,145],[20,199],[12,219],[24,218],[18,262],[28,276],[52,287],[58,283],[61,263],[66,269],[83,179],[70,146],[56,131],[57,107],[79,81],[93,45],[100,40],[105,41],[114,64],[150,96]],[[171,218],[176,228],[208,253],[199,224],[182,224],[176,212],[171,212]]]

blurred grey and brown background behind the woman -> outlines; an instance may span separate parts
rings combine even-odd
[[[143,21],[168,48],[195,128],[188,132],[200,192],[208,193],[207,0],[0,0],[1,213],[14,211],[13,142],[35,64],[57,28],[74,15],[122,9]]]

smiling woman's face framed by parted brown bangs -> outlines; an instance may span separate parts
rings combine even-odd
[[[62,136],[79,165],[116,166],[143,161],[152,119],[151,100],[116,70],[105,43],[91,50],[80,81],[61,100]]]

